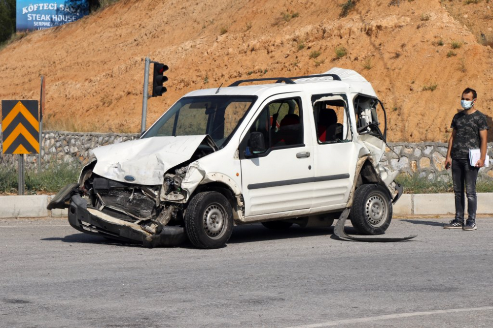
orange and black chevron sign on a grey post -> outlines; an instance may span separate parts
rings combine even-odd
[[[37,154],[39,119],[37,100],[2,100],[1,131],[4,154]]]

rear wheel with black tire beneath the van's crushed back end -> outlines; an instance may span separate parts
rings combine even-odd
[[[362,235],[382,235],[392,220],[392,202],[378,184],[363,184],[354,192],[349,214],[352,226]]]

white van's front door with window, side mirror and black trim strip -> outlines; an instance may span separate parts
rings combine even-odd
[[[285,94],[266,100],[240,145],[245,217],[308,213],[313,196],[314,156],[310,124],[304,118],[300,95]],[[252,148],[250,135],[264,140]],[[257,145],[258,146],[258,145]]]

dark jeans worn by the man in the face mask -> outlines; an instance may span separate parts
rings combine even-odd
[[[452,180],[456,196],[456,220],[464,222],[464,182],[467,193],[467,221],[475,222],[478,198],[476,196],[476,179],[479,168],[471,166],[468,158],[452,159]]]

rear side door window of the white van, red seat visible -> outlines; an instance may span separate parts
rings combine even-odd
[[[352,140],[345,97],[334,94],[316,95],[312,97],[312,103],[319,143]]]

